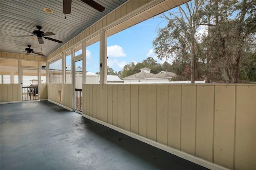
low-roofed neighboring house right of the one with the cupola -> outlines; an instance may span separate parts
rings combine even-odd
[[[171,81],[173,77],[176,77],[175,73],[168,71],[161,71],[155,75],[145,78],[146,82],[161,83]]]

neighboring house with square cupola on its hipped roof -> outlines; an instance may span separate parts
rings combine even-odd
[[[128,77],[124,77],[122,79],[124,80],[124,83],[146,82],[145,78],[155,75],[153,73],[150,73],[150,70],[151,69],[144,67],[144,68],[140,69],[139,73],[129,75]]]

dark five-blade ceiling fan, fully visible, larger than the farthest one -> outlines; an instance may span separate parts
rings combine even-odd
[[[16,28],[17,28],[17,27],[16,27]],[[53,38],[50,38],[50,37],[46,37],[46,36],[53,36],[53,35],[55,35],[53,32],[42,32],[42,31],[40,31],[40,30],[42,29],[41,26],[36,26],[36,28],[37,28],[38,30],[34,30],[33,32],[30,32],[30,31],[25,30],[25,29],[23,29],[23,28],[17,28],[17,29],[19,29],[19,30],[24,30],[24,31],[26,31],[26,32],[29,32],[30,34],[33,34],[33,35],[14,36],[14,37],[27,37],[27,36],[35,37],[35,36],[36,36],[37,39],[38,39],[38,42],[39,42],[40,44],[43,44],[43,43],[44,43],[43,38],[45,38],[45,39],[47,39],[47,40],[54,41],[54,42],[62,43],[62,41],[59,41],[59,40],[56,40],[56,39],[53,39]]]

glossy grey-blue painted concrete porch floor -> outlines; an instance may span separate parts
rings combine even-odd
[[[0,105],[1,170],[203,170],[49,101]]]

